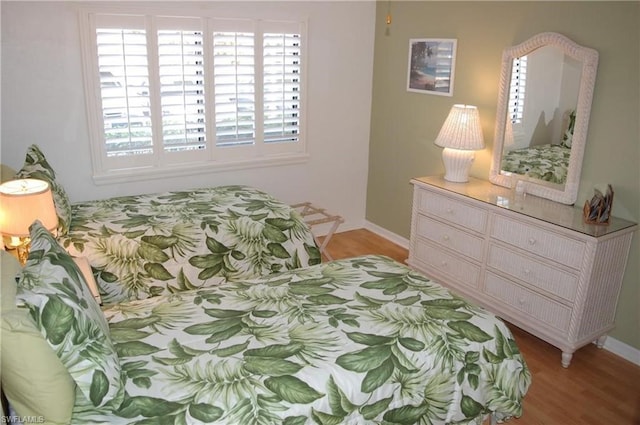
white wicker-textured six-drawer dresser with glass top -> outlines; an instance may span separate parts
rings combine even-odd
[[[564,367],[604,344],[635,223],[585,224],[580,208],[484,180],[411,183],[410,266],[560,348]]]

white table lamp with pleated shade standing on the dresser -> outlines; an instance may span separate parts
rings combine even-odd
[[[459,183],[469,181],[474,151],[484,149],[478,108],[471,105],[453,105],[435,144],[444,148],[444,179]]]

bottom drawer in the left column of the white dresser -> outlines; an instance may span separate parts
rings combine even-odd
[[[429,270],[433,270],[439,275],[450,276],[457,282],[473,288],[477,288],[480,282],[480,266],[450,255],[423,239],[416,240],[415,256],[412,259],[426,266],[427,275]],[[446,285],[447,282],[438,283]]]

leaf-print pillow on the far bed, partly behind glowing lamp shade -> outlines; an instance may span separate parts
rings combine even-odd
[[[16,174],[16,178],[39,179],[51,185],[53,203],[58,214],[58,236],[66,235],[71,225],[71,203],[67,192],[56,182],[56,172],[53,171],[37,145],[31,145],[27,148],[27,157],[22,169]]]

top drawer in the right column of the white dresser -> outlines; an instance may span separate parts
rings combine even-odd
[[[585,251],[585,242],[501,215],[494,216],[491,237],[575,269]]]

